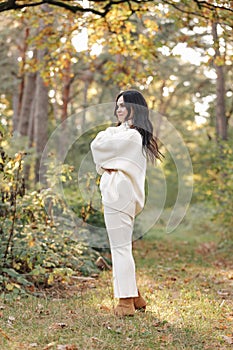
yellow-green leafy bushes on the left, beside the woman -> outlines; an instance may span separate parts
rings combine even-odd
[[[51,189],[26,192],[23,156],[9,157],[1,148],[0,290],[16,295],[74,273],[97,272],[98,256],[81,242],[84,228],[78,228],[77,241],[72,238],[74,227],[57,220],[66,213],[64,200]],[[62,181],[67,174],[64,166]]]

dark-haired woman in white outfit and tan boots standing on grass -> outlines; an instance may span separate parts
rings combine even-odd
[[[132,255],[134,218],[144,206],[147,158],[154,161],[161,153],[140,92],[121,92],[114,114],[118,125],[99,132],[91,151],[96,170],[102,175],[100,191],[112,256],[113,289],[119,298],[114,312],[131,316],[135,310],[146,309],[137,288]]]

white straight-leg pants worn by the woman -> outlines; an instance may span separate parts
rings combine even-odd
[[[123,212],[104,207],[113,270],[115,298],[137,297],[135,263],[132,254],[134,219]]]

